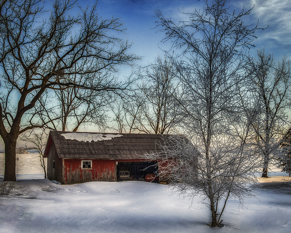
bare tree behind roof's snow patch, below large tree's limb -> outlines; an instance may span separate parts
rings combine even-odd
[[[80,82],[80,79],[75,75],[74,80]],[[118,83],[114,78],[107,77],[105,74],[100,74],[96,86],[118,87]],[[59,106],[57,114],[61,122],[61,130],[77,131],[81,125],[94,124],[99,128],[106,124],[106,111],[110,102],[114,101],[113,94],[107,90],[81,90],[79,88],[55,89],[56,103]],[[53,117],[52,117],[53,118]]]

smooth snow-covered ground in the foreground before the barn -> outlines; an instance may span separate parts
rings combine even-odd
[[[291,185],[286,181],[290,177],[284,179],[282,172],[261,179],[263,189],[257,198],[246,199],[244,208],[229,200],[224,226],[210,228],[211,213],[199,197],[191,205],[166,185],[141,181],[59,185],[33,179],[43,174],[30,171],[18,176],[9,196],[0,195],[1,233],[291,232]]]

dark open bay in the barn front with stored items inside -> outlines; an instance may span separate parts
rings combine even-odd
[[[117,179],[118,181],[145,180],[145,176],[147,174],[157,174],[158,167],[155,166],[156,164],[157,162],[155,161],[118,162],[118,164],[116,165]],[[129,172],[129,178],[127,177],[127,172]],[[152,182],[159,182],[159,180],[156,179],[155,181]]]

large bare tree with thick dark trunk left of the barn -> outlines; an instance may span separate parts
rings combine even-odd
[[[18,136],[33,128],[50,127],[54,120],[39,117],[54,109],[51,90],[120,90],[124,87],[100,84],[100,75],[117,72],[119,65],[136,60],[127,53],[131,45],[116,37],[125,30],[119,18],[104,20],[97,15],[96,5],[82,9],[70,0],[56,1],[48,11],[44,7],[39,0],[6,0],[0,5],[4,181],[16,180]]]

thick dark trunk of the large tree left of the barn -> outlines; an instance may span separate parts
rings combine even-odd
[[[11,136],[4,140],[5,144],[5,165],[3,181],[16,181],[16,140]]]

